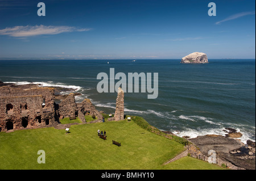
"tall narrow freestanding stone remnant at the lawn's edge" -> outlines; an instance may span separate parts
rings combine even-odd
[[[118,88],[117,93],[117,103],[115,105],[115,115],[114,120],[119,121],[125,119],[125,93],[121,89],[121,87]]]

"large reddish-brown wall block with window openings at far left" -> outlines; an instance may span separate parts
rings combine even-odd
[[[0,131],[56,125],[55,116],[53,89],[0,87]]]

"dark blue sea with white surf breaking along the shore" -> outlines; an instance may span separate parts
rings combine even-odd
[[[89,98],[97,110],[114,113],[117,92],[97,90],[101,81],[97,75],[106,73],[110,82],[110,68],[115,74],[152,73],[152,79],[153,73],[158,73],[158,97],[148,99],[152,93],[141,89],[125,92],[125,115],[142,116],[154,127],[180,137],[224,136],[225,128],[234,128],[243,134],[242,142],[255,141],[255,59],[209,60],[208,64],[180,64],[180,60],[0,60],[0,81],[72,88],[71,92],[80,93],[76,102]]]

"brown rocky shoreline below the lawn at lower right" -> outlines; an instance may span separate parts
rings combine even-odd
[[[188,141],[199,148],[192,153],[209,157],[209,150],[214,150],[219,165],[227,165],[230,169],[255,170],[255,142],[247,140],[244,144],[237,139],[242,133],[238,133],[233,128],[228,130],[225,136],[207,134],[188,138]]]

